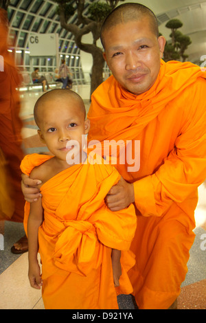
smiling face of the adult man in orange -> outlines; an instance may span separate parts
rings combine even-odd
[[[124,89],[137,95],[155,83],[165,45],[165,38],[157,38],[148,19],[119,23],[104,32],[108,67]]]

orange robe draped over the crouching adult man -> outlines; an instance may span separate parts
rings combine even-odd
[[[192,63],[161,60],[145,93],[135,96],[111,76],[91,97],[88,141],[133,140],[133,148],[140,141],[139,170],[117,161],[135,188],[136,264],[128,274],[139,309],[168,309],[187,273],[197,187],[206,177],[205,78]]]

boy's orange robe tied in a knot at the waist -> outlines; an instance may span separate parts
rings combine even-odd
[[[27,175],[49,155],[27,155]],[[102,159],[102,158],[101,158]],[[118,309],[117,293],[131,293],[126,271],[135,258],[128,251],[136,216],[130,205],[111,212],[104,197],[120,175],[111,165],[71,166],[41,186],[43,225],[38,231],[46,309]],[[30,203],[25,204],[25,231]],[[115,290],[111,248],[122,252],[122,276]]]

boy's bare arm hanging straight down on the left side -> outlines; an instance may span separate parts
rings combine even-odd
[[[43,223],[43,207],[41,199],[30,205],[30,216],[27,223],[27,237],[29,248],[29,280],[30,285],[40,289],[41,272],[38,265],[38,227]]]

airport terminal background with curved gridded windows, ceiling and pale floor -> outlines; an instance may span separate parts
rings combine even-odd
[[[93,1],[95,0],[85,1],[86,16],[89,4]],[[192,41],[186,51],[187,60],[206,66],[206,1],[142,0],[139,3],[155,12],[159,31],[167,40],[170,38],[170,31],[165,24],[170,19],[181,20],[181,32],[190,36]],[[56,7],[57,3],[50,0],[10,0],[8,5],[8,50],[14,54],[16,66],[23,76],[21,86],[16,91],[19,91],[21,98],[21,134],[25,154],[47,152],[47,148],[38,138],[38,127],[33,115],[34,104],[43,94],[42,85],[32,84],[31,74],[35,67],[38,67],[39,74],[47,77],[50,89],[60,88],[62,83],[55,81],[54,73],[60,61],[65,59],[72,74],[72,90],[82,96],[87,112],[89,110],[91,54],[80,51],[73,34],[61,27]],[[69,22],[75,23],[76,20],[77,16],[74,14]],[[53,35],[52,39],[57,44],[56,47],[54,45],[52,56],[46,56],[44,50],[41,55],[36,54],[34,49],[35,37],[38,36],[40,40],[45,34]],[[91,39],[85,38],[85,41]],[[109,76],[106,63],[103,76],[104,79]],[[206,181],[198,188],[198,194],[194,229],[196,238],[190,250],[188,272],[181,285],[177,309],[206,309]],[[0,309],[44,309],[41,291],[32,289],[27,279],[27,252],[16,255],[10,251],[12,245],[24,235],[23,223],[0,221],[0,234],[3,236],[0,248]],[[136,309],[130,296],[118,296],[118,302],[119,309]]]

